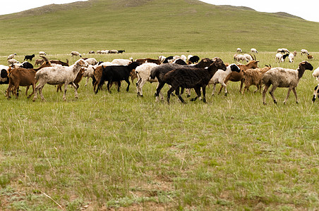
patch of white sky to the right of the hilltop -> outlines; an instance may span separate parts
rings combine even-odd
[[[319,1],[318,0],[200,0],[215,5],[248,6],[255,11],[276,13],[286,12],[299,16],[305,20],[319,22]]]

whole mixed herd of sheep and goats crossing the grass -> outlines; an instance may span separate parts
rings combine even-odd
[[[258,53],[256,49],[251,49],[251,52]],[[138,80],[136,82],[138,96],[143,96],[143,85],[146,82],[157,82],[158,86],[155,93],[156,101],[159,101],[159,98],[163,100],[161,90],[164,84],[168,84],[167,103],[169,103],[170,96],[174,91],[179,100],[185,103],[181,95],[183,91],[185,91],[187,96],[191,96],[191,89],[194,89],[196,93],[196,96],[191,98],[191,101],[201,98],[201,93],[203,92],[203,102],[205,103],[206,87],[208,84],[213,85],[212,95],[215,94],[216,84],[222,85],[219,89],[219,93],[224,88],[224,94],[227,95],[227,82],[231,81],[241,82],[240,91],[242,94],[244,91],[249,91],[249,87],[252,85],[257,87],[255,91],[260,92],[262,87],[264,87],[263,103],[265,105],[265,95],[270,85],[272,85],[272,88],[269,93],[274,103],[277,103],[277,99],[274,95],[277,87],[288,88],[284,103],[287,103],[291,90],[296,97],[296,103],[298,103],[296,87],[305,70],[313,70],[311,63],[307,60],[303,60],[299,63],[299,67],[296,70],[271,68],[268,66],[258,68],[258,60],[253,59],[250,54],[241,55],[238,53],[241,53],[241,49],[237,49],[234,60],[238,62],[244,60],[247,62],[246,65],[235,63],[228,65],[218,57],[212,59],[203,58],[200,60],[198,56],[191,55],[188,57],[184,55],[159,56],[157,59],[114,59],[112,62],[98,62],[95,58],[82,58],[77,51],[72,51],[71,56],[79,56],[80,59],[73,65],[69,65],[68,60],[66,60],[66,62],[61,60],[48,60],[46,54],[41,51],[39,52],[41,59],[35,60],[35,66],[38,65],[38,68],[34,68],[30,63],[32,58],[35,57],[35,54],[25,56],[25,61],[18,63],[18,61],[14,59],[16,53],[13,53],[8,56],[8,66],[0,65],[0,84],[8,84],[8,89],[6,89],[7,98],[11,98],[11,94],[18,98],[19,87],[27,87],[25,94],[28,95],[28,89],[32,86],[32,93],[28,95],[28,98],[35,94],[33,101],[37,100],[38,94],[40,94],[42,101],[45,101],[42,94],[42,89],[45,84],[56,85],[56,91],[61,90],[64,84],[63,99],[66,101],[68,84],[71,84],[71,86],[75,88],[75,97],[78,98],[78,84],[83,77],[87,77],[85,86],[87,86],[88,80],[92,78],[95,94],[97,94],[105,82],[107,82],[107,90],[110,93],[112,84],[116,84],[117,91],[119,91],[121,81],[123,80],[128,84],[126,88],[126,91],[128,91],[131,84],[129,78],[131,77],[132,82],[135,78]],[[301,53],[307,54],[308,59],[311,59],[308,51],[305,49],[302,49]],[[289,61],[292,62],[294,56],[296,56],[296,51],[289,53],[287,49],[278,49],[276,59],[282,62],[288,57]],[[28,62],[28,60],[30,60],[30,62]],[[319,82],[319,68],[313,72],[313,77]],[[318,97],[318,93],[319,84],[313,92],[313,102],[315,98]]]

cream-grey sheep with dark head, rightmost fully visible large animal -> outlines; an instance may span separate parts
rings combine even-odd
[[[313,65],[308,63],[308,61],[304,60],[299,63],[299,67],[297,70],[291,70],[287,68],[272,68],[265,72],[262,78],[263,84],[265,84],[265,88],[263,90],[263,104],[266,105],[266,92],[272,84],[272,89],[270,90],[270,96],[274,100],[274,103],[277,104],[277,99],[275,98],[274,92],[277,87],[288,87],[287,97],[284,99],[284,104],[287,103],[290,91],[294,92],[296,97],[296,103],[298,102],[298,97],[296,93],[296,87],[299,83],[299,79],[303,76],[303,72],[305,70],[313,70]]]

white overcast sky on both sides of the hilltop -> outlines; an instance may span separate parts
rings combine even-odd
[[[85,1],[85,0],[78,0]],[[319,22],[319,1],[318,0],[200,0],[209,4],[215,5],[233,5],[233,6],[248,6],[255,11],[260,12],[286,12],[291,15],[299,16],[306,20]],[[47,4],[66,4],[74,2],[74,0],[9,0],[0,1],[0,15],[17,13],[30,8],[36,8]]]

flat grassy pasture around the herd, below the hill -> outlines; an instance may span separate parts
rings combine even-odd
[[[97,60],[157,58],[159,55],[218,56],[234,63],[235,52],[167,52],[92,55]],[[319,53],[312,53],[313,68]],[[85,55],[88,56],[88,55]],[[275,63],[275,52],[256,54],[259,67],[298,67]],[[38,57],[38,56],[37,56]],[[74,63],[69,55],[49,59]],[[16,56],[23,60],[23,56]],[[0,58],[6,64],[6,57]],[[34,61],[33,61],[34,63]],[[316,210],[319,207],[317,84],[306,70],[297,87],[299,104],[287,89],[229,94],[207,103],[178,98],[155,103],[157,84],[135,84],[118,93],[94,94],[92,80],[80,82],[78,99],[67,101],[45,85],[47,102],[32,102],[20,87],[7,100],[0,85],[0,210]],[[136,82],[136,80],[135,80]],[[217,85],[217,89],[219,85]],[[164,89],[166,97],[167,85]],[[194,91],[192,92],[192,96]]]

